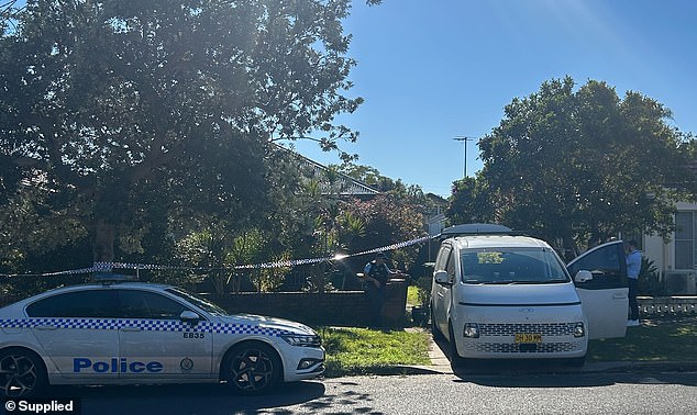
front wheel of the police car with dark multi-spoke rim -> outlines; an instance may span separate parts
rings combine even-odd
[[[281,375],[278,354],[262,343],[233,347],[223,362],[224,379],[244,394],[267,392],[280,381]]]

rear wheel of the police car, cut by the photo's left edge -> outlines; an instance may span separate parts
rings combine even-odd
[[[23,350],[0,352],[0,385],[7,397],[35,396],[46,385],[44,363]]]

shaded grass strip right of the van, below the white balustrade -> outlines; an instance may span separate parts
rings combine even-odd
[[[644,323],[629,327],[627,337],[590,340],[588,361],[697,361],[697,325]]]

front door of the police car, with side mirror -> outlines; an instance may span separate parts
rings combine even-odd
[[[122,379],[186,380],[211,377],[212,334],[200,313],[198,323],[180,319],[192,307],[162,293],[119,290],[123,316],[119,329]],[[195,312],[196,313],[196,312]]]

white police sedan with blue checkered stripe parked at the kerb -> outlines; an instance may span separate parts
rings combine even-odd
[[[0,386],[226,381],[243,393],[324,371],[302,324],[230,315],[179,288],[142,282],[65,287],[0,309]]]

